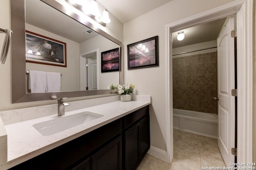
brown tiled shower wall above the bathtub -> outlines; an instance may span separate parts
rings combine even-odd
[[[217,114],[217,52],[172,62],[173,108]]]

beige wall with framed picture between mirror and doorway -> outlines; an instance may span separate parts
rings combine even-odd
[[[233,0],[173,0],[124,23],[124,82],[136,86],[136,94],[152,96],[151,145],[166,150],[166,24]],[[127,45],[158,35],[159,66],[127,70]]]

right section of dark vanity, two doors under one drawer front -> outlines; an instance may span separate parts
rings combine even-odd
[[[148,107],[124,117],[124,168],[136,170],[150,148]]]

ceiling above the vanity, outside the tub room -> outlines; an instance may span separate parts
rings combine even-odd
[[[97,0],[119,21],[126,23],[172,0]]]

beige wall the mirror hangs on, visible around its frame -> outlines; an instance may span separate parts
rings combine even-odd
[[[0,27],[4,29],[10,29],[10,0],[1,0],[0,5]],[[119,41],[123,41],[123,24],[117,20],[112,14],[110,14],[111,23],[108,23],[106,27],[104,27],[104,31],[118,39]],[[2,44],[4,42],[5,35],[0,33],[0,49],[2,50]],[[12,47],[15,48],[15,47]],[[8,53],[8,57],[6,59],[5,64],[0,64],[0,111],[11,110],[11,109],[19,109],[26,107],[35,107],[35,106],[43,106],[48,104],[56,104],[56,100],[46,100],[39,102],[26,102],[19,104],[11,104],[11,72],[10,72],[10,51]],[[80,98],[72,98],[71,100],[83,100],[87,98],[93,97],[80,97]]]

